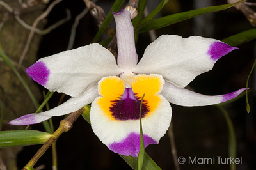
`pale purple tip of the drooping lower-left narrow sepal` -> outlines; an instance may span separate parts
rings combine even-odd
[[[21,116],[20,118],[17,118],[15,120],[12,120],[8,122],[10,125],[32,125],[38,123],[36,121],[35,115],[34,114],[26,114],[24,116]]]

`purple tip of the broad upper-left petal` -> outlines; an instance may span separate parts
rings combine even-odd
[[[45,66],[45,63],[38,61],[26,69],[28,75],[36,82],[45,86],[47,84],[50,70]]]

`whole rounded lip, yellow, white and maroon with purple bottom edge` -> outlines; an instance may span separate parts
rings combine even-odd
[[[134,109],[134,102],[138,102],[134,100],[140,100],[145,93],[145,110],[142,111],[145,147],[157,144],[168,130],[172,118],[169,102],[159,94],[163,83],[161,75],[137,75],[132,77],[132,88],[125,88],[124,81],[119,77],[104,77],[99,82],[102,96],[92,102],[90,112],[93,132],[100,141],[115,153],[138,157],[140,107]],[[113,109],[115,107],[118,109]]]

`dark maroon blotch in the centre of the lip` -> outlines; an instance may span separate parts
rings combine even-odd
[[[138,120],[140,118],[140,102],[136,98],[132,88],[125,88],[124,94],[120,100],[111,101],[114,104],[110,107],[109,111],[116,120]],[[147,101],[143,100],[141,108],[141,118],[149,112]]]

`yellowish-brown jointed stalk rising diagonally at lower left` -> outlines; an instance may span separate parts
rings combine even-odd
[[[56,139],[63,133],[68,132],[73,127],[74,121],[80,116],[84,108],[76,112],[72,112],[67,118],[61,120],[59,128],[52,134],[52,137],[36,152],[33,158],[26,164],[22,170],[28,170],[27,167],[33,167],[37,160],[45,153],[45,151],[56,141]]]

